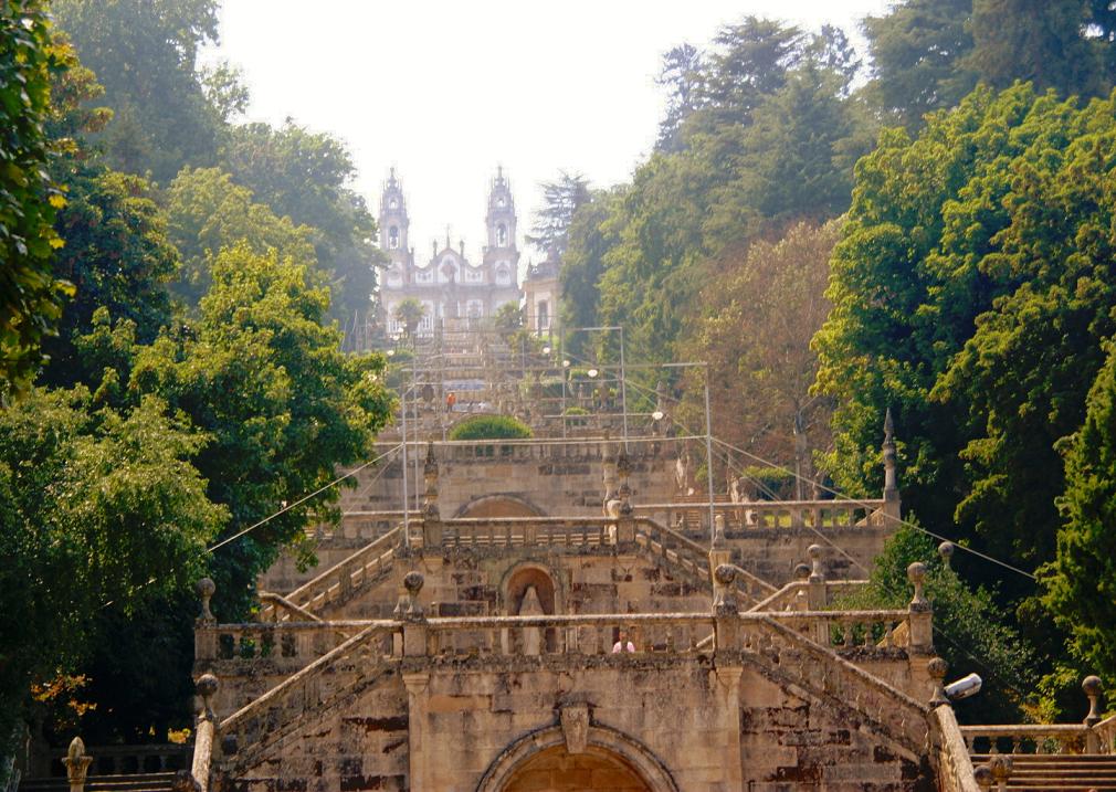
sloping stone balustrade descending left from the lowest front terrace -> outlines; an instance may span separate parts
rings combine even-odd
[[[323,702],[347,686],[375,677],[375,670],[385,665],[386,657],[391,655],[389,643],[398,622],[378,620],[365,624],[367,626],[352,638],[221,721],[220,734],[227,750],[238,753],[250,746],[258,750],[264,737],[277,738],[282,727],[289,727],[301,715],[318,709]],[[377,646],[377,641],[383,644]],[[336,673],[338,664],[344,660],[353,660],[356,667],[353,674]],[[333,689],[327,683],[333,683]],[[238,760],[243,760],[243,755]]]

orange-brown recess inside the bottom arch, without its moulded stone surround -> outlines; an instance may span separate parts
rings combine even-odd
[[[594,746],[570,754],[565,745],[540,751],[516,767],[501,792],[652,792],[623,759]]]

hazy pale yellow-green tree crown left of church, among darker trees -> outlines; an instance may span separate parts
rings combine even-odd
[[[275,250],[316,265],[312,229],[276,216],[220,168],[183,168],[166,191],[166,214],[169,235],[182,254],[174,292],[194,309],[212,284],[213,258],[240,242],[256,253]]]

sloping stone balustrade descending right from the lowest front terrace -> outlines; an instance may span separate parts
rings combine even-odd
[[[760,665],[770,673],[790,677],[816,695],[852,707],[914,754],[922,753],[930,714],[927,705],[769,615],[742,614],[740,620],[757,627],[741,631],[741,648],[754,653]]]

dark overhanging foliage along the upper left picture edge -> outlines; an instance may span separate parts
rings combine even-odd
[[[51,84],[71,62],[51,38],[45,2],[0,7],[0,403],[41,365],[39,346],[55,332],[71,292],[50,268],[61,244],[55,212],[65,199],[48,173],[46,131]]]

